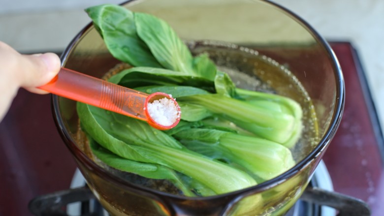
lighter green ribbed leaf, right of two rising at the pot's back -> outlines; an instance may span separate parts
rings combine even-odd
[[[134,17],[137,34],[163,67],[195,75],[190,50],[165,21],[145,13]]]

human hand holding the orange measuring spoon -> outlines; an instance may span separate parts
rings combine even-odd
[[[59,72],[60,64],[56,54],[22,55],[0,41],[0,121],[19,88],[32,93],[47,93],[36,87],[51,81]]]

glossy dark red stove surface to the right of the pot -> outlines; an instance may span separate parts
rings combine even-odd
[[[350,43],[330,43],[342,68],[346,102],[342,121],[323,160],[335,191],[364,200],[372,216],[384,212],[384,143],[357,52]]]

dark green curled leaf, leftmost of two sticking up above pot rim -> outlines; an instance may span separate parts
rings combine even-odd
[[[116,59],[133,66],[161,67],[147,45],[138,37],[131,11],[114,4],[93,6],[85,11]]]

